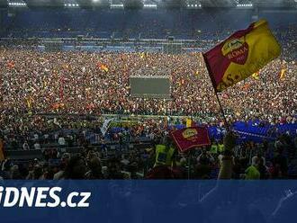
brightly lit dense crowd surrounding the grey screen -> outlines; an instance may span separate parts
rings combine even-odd
[[[60,52],[1,50],[1,107],[4,113],[125,113],[210,116],[219,106],[198,53]],[[229,120],[261,117],[270,122],[294,122],[297,65],[276,59],[259,76],[220,95]],[[164,70],[171,77],[172,100],[130,97],[129,77]],[[156,72],[154,72],[156,70]],[[284,70],[284,75],[280,76]]]

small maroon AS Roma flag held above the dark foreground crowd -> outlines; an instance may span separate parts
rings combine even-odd
[[[171,133],[172,138],[180,152],[187,151],[193,147],[206,146],[211,144],[208,130],[203,127],[190,127],[175,130]]]

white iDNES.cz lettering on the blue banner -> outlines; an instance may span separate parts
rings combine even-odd
[[[87,208],[91,192],[70,192],[66,201],[61,201],[60,187],[15,187],[0,186],[0,208],[32,207],[32,208]]]

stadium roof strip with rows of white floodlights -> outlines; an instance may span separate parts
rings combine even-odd
[[[29,8],[297,8],[297,0],[0,0],[0,6]]]

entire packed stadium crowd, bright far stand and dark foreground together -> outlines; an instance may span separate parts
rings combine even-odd
[[[258,75],[222,93],[227,119],[295,123],[296,68],[294,61],[276,59]],[[296,138],[284,135],[270,144],[246,142],[231,149],[223,148],[229,147],[226,142],[224,145],[213,139],[210,147],[199,147],[189,154],[179,154],[175,148],[169,163],[160,164],[156,145],[175,147],[172,141],[161,142],[168,134],[166,120],[143,120],[103,137],[98,129],[103,120],[67,116],[186,115],[200,123],[220,126],[219,106],[199,53],[40,53],[2,49],[1,69],[1,135],[5,147],[42,151],[42,158],[26,163],[6,159],[1,172],[4,179],[285,179],[295,158]],[[172,100],[130,97],[129,76],[159,75],[160,70],[171,76]],[[49,119],[47,115],[65,117]],[[58,134],[59,129],[78,131]],[[94,147],[87,131],[99,136]],[[129,147],[132,139],[141,144],[141,137],[149,138],[148,147]],[[57,147],[48,148],[49,142]],[[108,142],[118,145],[115,152]],[[74,145],[81,147],[78,155],[60,149]]]

